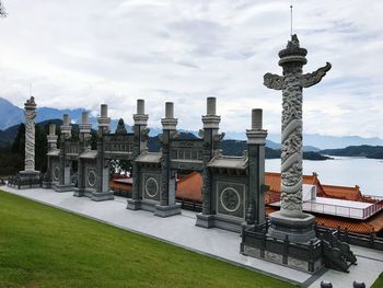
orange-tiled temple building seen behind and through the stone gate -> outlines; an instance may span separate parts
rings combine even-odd
[[[268,191],[265,194],[266,214],[277,211],[280,199],[280,173],[266,172],[265,184]],[[132,180],[127,176],[117,175],[111,180],[111,188],[116,191],[117,195],[129,196],[132,187]],[[176,185],[176,199],[185,204],[186,207],[193,207],[198,210],[202,203],[202,176],[198,172],[178,177]],[[303,188],[314,188],[316,199],[321,200],[322,208],[318,205],[304,209],[316,217],[318,226],[346,230],[348,232],[360,234],[383,234],[383,197],[365,196],[361,193],[360,187],[336,186],[322,184],[318,175],[303,176]],[[317,203],[316,203],[317,204]],[[337,207],[348,206],[345,209]],[[316,209],[313,209],[316,208]],[[327,208],[327,211],[326,211]],[[338,209],[335,211],[330,208]],[[347,211],[347,209],[350,210]],[[363,215],[364,211],[364,215]]]

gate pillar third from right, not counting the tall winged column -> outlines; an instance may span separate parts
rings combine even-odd
[[[162,124],[162,158],[161,158],[161,194],[160,205],[155,206],[154,215],[167,217],[181,214],[181,205],[175,203],[175,175],[171,170],[172,139],[175,137],[178,120],[174,118],[173,102],[165,103],[165,118]]]

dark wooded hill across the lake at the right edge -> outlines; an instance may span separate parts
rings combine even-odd
[[[365,157],[373,159],[383,159],[382,146],[349,146],[343,149],[326,149],[321,150],[321,153],[328,155],[344,155],[344,157]]]

